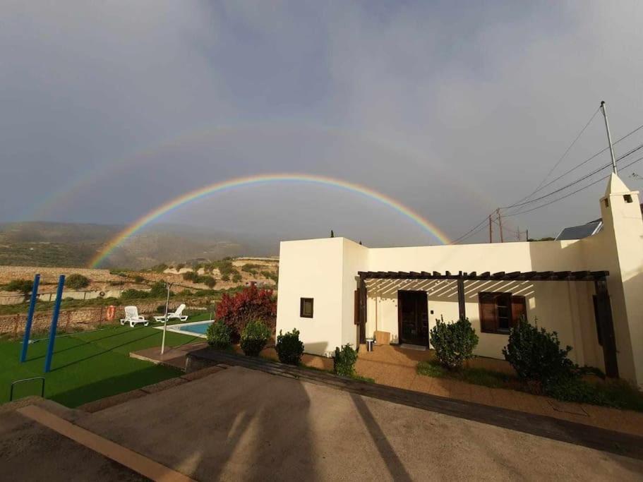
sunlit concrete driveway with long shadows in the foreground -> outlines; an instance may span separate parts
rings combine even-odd
[[[643,477],[640,460],[241,367],[76,423],[202,481]]]

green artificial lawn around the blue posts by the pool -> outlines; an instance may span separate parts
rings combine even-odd
[[[189,321],[208,319],[206,315]],[[13,380],[45,377],[45,397],[75,407],[110,395],[134,390],[181,374],[179,370],[132,359],[130,351],[161,344],[162,330],[110,325],[105,330],[79,332],[56,338],[52,371],[44,375],[47,340],[30,344],[27,361],[19,363],[21,342],[0,339],[0,403],[8,402]],[[197,342],[202,338],[167,332],[167,346]],[[40,394],[38,382],[16,387],[14,399]]]

